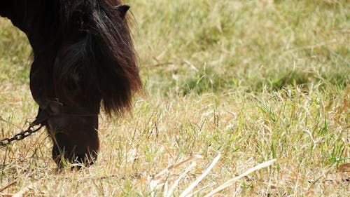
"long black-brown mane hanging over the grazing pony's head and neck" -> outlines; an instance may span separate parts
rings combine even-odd
[[[72,73],[83,73],[86,76],[78,76],[85,78],[81,81],[90,82],[75,87],[83,87],[83,95],[92,97],[91,88],[97,88],[107,112],[129,109],[141,80],[125,20],[128,7],[120,6],[119,1],[94,0],[60,0],[58,6],[62,42],[55,58],[59,62],[54,66],[53,74],[59,76],[53,81],[55,89],[69,92],[77,77]]]

